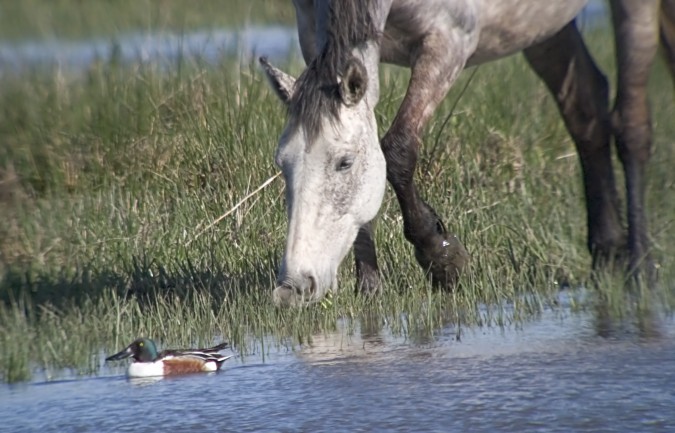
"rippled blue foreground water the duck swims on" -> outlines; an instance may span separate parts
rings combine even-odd
[[[519,329],[386,332],[228,361],[216,374],[0,387],[0,430],[675,431],[675,323],[549,312]]]

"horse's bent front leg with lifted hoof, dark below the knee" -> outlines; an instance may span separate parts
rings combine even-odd
[[[406,96],[382,138],[387,179],[403,214],[404,235],[415,247],[417,262],[430,273],[435,285],[452,287],[468,254],[415,186],[414,173],[421,145],[420,134],[464,68],[466,35],[428,35],[419,47]],[[449,41],[457,39],[456,44]]]

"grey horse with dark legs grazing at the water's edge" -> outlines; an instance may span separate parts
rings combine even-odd
[[[675,75],[675,0],[611,0],[618,87],[574,19],[585,0],[294,0],[307,68],[296,80],[261,64],[288,107],[276,163],[286,182],[288,234],[274,300],[298,305],[337,288],[354,246],[358,284],[380,285],[372,220],[391,184],[404,235],[435,284],[452,287],[468,261],[418,192],[420,136],[460,72],[522,51],[555,98],[579,154],[593,266],[626,257],[650,272],[645,170],[651,147],[647,79],[659,42]],[[407,93],[380,140],[374,108],[380,62],[411,68]],[[627,231],[611,163],[623,165]]]

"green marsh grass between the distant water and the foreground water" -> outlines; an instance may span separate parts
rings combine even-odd
[[[606,36],[590,40],[611,70]],[[346,319],[424,342],[448,326],[536,317],[562,287],[592,286],[572,306],[603,305],[611,317],[673,305],[675,104],[660,64],[647,188],[657,289],[628,290],[617,273],[589,282],[574,146],[544,86],[514,57],[462,76],[425,135],[417,173],[424,196],[472,257],[459,290],[430,290],[389,193],[376,233],[384,293],[355,295],[349,258],[344,290],[329,302],[280,311],[270,291],[285,236],[283,182],[204,229],[277,172],[283,108],[254,65],[178,62],[166,70],[111,59],[84,76],[53,70],[0,78],[5,381],[36,371],[94,374],[101,351],[138,336],[174,347],[227,339],[242,354],[265,356]],[[407,76],[382,69],[383,131]]]

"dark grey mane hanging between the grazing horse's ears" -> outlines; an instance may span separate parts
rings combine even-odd
[[[295,83],[289,104],[291,124],[302,123],[312,142],[321,132],[321,116],[336,119],[341,103],[337,77],[352,49],[377,37],[371,5],[374,0],[329,0],[326,42]]]

